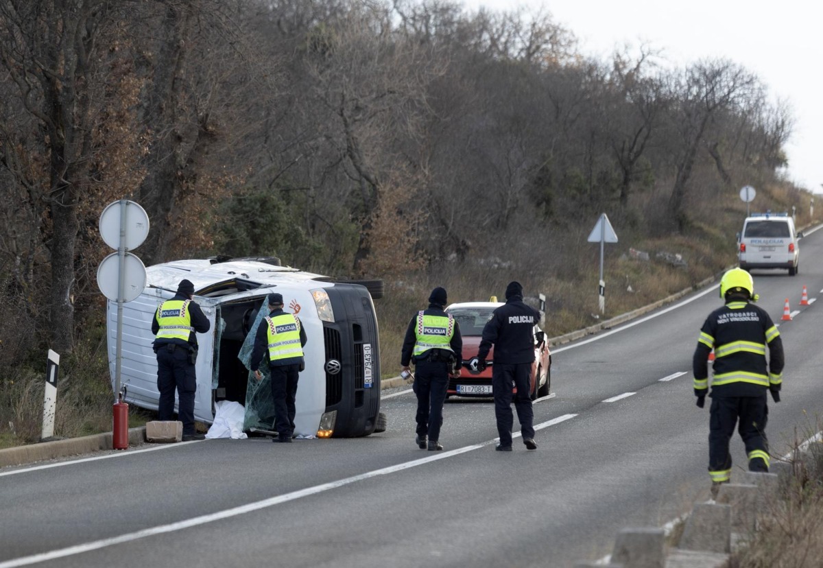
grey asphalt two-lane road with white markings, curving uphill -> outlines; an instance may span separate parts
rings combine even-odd
[[[807,231],[796,277],[755,272],[787,355],[767,429],[775,457],[816,431],[823,410],[821,243],[823,231]],[[414,395],[393,389],[387,430],[362,439],[204,440],[2,469],[0,568],[595,561],[621,528],[663,526],[708,497],[709,412],[695,407],[690,366],[718,305],[715,285],[554,348],[534,452],[519,439],[495,452],[492,403],[456,399],[445,451],[417,449]],[[733,481],[746,467],[739,439],[732,457]]]

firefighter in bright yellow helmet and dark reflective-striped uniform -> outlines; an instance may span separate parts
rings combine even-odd
[[[746,445],[749,470],[769,471],[769,441],[766,421],[769,411],[766,393],[780,401],[783,372],[783,340],[769,314],[756,301],[751,274],[732,268],[720,281],[722,308],[709,314],[700,329],[692,367],[695,372],[697,406],[704,406],[709,392],[709,353],[714,349],[712,398],[709,418],[709,475],[712,496],[732,474],[729,440],[738,431]],[[766,365],[766,346],[769,364]]]

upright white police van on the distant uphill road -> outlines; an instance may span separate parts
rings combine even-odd
[[[753,213],[746,217],[737,239],[740,268],[783,268],[794,276],[800,263],[797,241],[802,237],[788,213]]]

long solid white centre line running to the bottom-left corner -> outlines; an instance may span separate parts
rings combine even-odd
[[[543,428],[560,424],[560,422],[565,422],[576,416],[576,414],[565,414],[561,417],[556,417],[551,419],[550,421],[542,422],[541,424],[534,426],[534,430],[542,430]],[[512,438],[517,438],[519,435],[519,433],[514,433],[512,435]],[[364,481],[365,479],[370,479],[371,477],[378,477],[380,475],[397,473],[403,471],[404,469],[416,468],[419,465],[435,462],[439,459],[446,459],[459,454],[466,454],[467,452],[471,452],[474,449],[480,449],[487,445],[492,445],[499,440],[499,438],[495,438],[494,440],[486,440],[485,442],[481,442],[480,444],[467,445],[463,448],[452,449],[447,452],[437,452],[433,455],[427,456],[422,459],[414,459],[411,462],[398,463],[397,465],[389,466],[388,468],[375,469],[371,472],[360,473],[360,475],[346,477],[345,479],[339,479],[336,482],[328,482],[314,487],[306,487],[305,489],[300,489],[300,491],[292,491],[291,493],[286,493],[285,495],[259,500],[253,503],[249,503],[247,505],[240,505],[239,507],[233,507],[231,509],[216,511],[215,513],[211,514],[203,514],[199,517],[194,517],[193,519],[186,519],[170,524],[161,524],[156,527],[144,528],[134,533],[121,534],[117,537],[112,538],[101,538],[100,540],[85,542],[83,544],[77,544],[73,547],[59,548],[58,550],[53,550],[50,552],[40,552],[39,554],[33,554],[31,556],[13,558],[12,560],[0,562],[0,568],[16,568],[16,566],[28,566],[30,564],[35,564],[37,562],[52,561],[58,558],[65,558],[66,556],[82,554],[83,552],[99,550],[100,548],[112,547],[115,544],[123,544],[123,542],[132,542],[140,538],[151,537],[156,534],[174,533],[175,531],[183,530],[184,528],[192,528],[197,527],[201,524],[208,524],[223,519],[230,519],[231,517],[236,517],[240,514],[246,514],[256,510],[267,509],[268,507],[280,505],[281,503],[287,503],[288,501],[300,499],[301,497],[317,495],[318,493],[322,493],[323,491],[337,489],[337,487],[343,487],[345,485],[350,485],[351,483]]]

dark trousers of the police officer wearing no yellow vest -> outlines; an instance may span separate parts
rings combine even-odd
[[[523,439],[534,437],[534,411],[531,398],[531,363],[496,363],[491,366],[491,389],[495,395],[495,417],[500,445],[512,445],[514,414],[512,399]],[[514,393],[517,387],[517,393]]]

